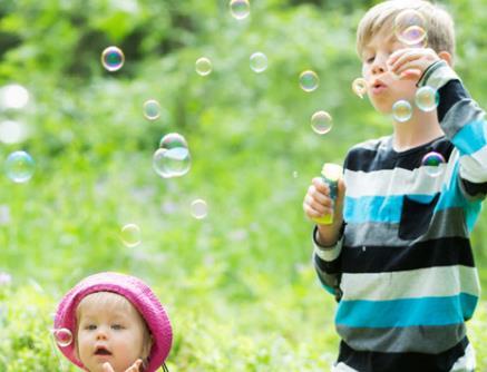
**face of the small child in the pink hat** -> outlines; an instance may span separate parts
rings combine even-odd
[[[79,304],[77,353],[90,372],[103,372],[109,362],[115,372],[124,372],[137,359],[145,360],[149,347],[146,325],[137,310],[125,297],[103,292],[104,298],[90,301],[86,296]]]

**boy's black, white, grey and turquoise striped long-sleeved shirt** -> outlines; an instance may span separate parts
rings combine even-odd
[[[438,90],[445,136],[400,153],[390,136],[354,146],[343,167],[343,237],[332,247],[314,239],[318,276],[339,301],[340,371],[475,364],[465,322],[479,297],[469,235],[487,193],[486,121],[444,61],[418,86]],[[431,151],[445,163],[423,165]]]

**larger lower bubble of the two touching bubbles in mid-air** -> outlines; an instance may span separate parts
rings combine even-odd
[[[186,147],[159,148],[153,156],[153,168],[163,178],[181,177],[191,168],[191,155]]]

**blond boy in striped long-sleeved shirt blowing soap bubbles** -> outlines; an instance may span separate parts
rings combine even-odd
[[[427,21],[427,47],[395,36],[407,9]],[[308,217],[333,214],[313,232],[313,262],[339,301],[342,339],[334,371],[473,371],[465,321],[479,281],[469,233],[487,192],[484,111],[452,70],[454,22],[427,1],[391,0],[371,8],[357,32],[372,106],[390,114],[411,102],[393,134],[354,146],[344,160],[338,198],[314,178],[304,197]],[[418,88],[437,89],[431,111],[415,107]],[[439,176],[425,155],[445,158]]]

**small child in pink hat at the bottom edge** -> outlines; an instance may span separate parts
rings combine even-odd
[[[60,351],[89,372],[166,370],[173,341],[169,319],[150,288],[118,273],[88,276],[70,290],[53,332]]]

